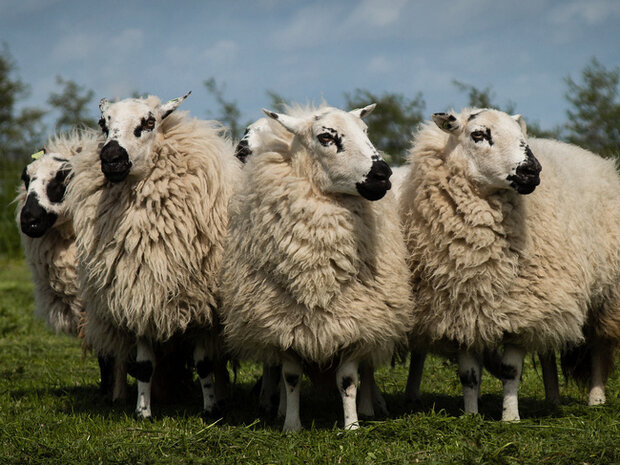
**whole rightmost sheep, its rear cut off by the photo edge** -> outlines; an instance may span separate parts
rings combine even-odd
[[[466,413],[478,409],[482,353],[503,344],[502,420],[518,421],[525,352],[581,343],[587,318],[618,340],[620,179],[612,161],[585,150],[528,143],[519,115],[432,119],[414,138],[400,197],[412,339],[457,353]]]

